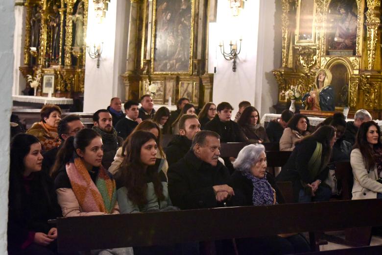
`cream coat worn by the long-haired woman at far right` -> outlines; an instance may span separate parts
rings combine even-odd
[[[354,149],[350,154],[350,164],[353,168],[354,184],[352,199],[377,198],[377,193],[382,193],[382,184],[377,182],[377,168],[367,173],[365,163],[359,149]]]

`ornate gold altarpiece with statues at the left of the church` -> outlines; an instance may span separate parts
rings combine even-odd
[[[48,95],[43,78],[54,75],[53,96],[82,97],[88,0],[26,0],[25,7],[23,76],[41,74],[38,96]]]

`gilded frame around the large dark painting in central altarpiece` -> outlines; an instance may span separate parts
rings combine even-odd
[[[158,75],[192,75],[192,57],[193,57],[193,40],[194,40],[194,20],[195,20],[195,0],[191,2],[191,31],[190,31],[190,59],[188,72],[155,72],[154,70],[154,50],[155,50],[155,34],[156,34],[156,5],[157,0],[153,0],[153,18],[152,18],[152,33],[151,33],[151,74]]]

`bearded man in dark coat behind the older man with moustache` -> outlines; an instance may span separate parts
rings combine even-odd
[[[168,166],[178,162],[191,149],[192,138],[200,131],[198,117],[183,115],[179,120],[179,135],[175,135],[165,148]]]

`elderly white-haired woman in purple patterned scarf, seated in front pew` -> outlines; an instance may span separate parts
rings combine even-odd
[[[241,118],[241,117],[240,117]],[[283,204],[284,198],[274,177],[266,172],[265,148],[261,144],[245,146],[234,162],[230,186],[235,191],[235,206]],[[239,254],[295,254],[310,251],[300,234],[236,239]]]

